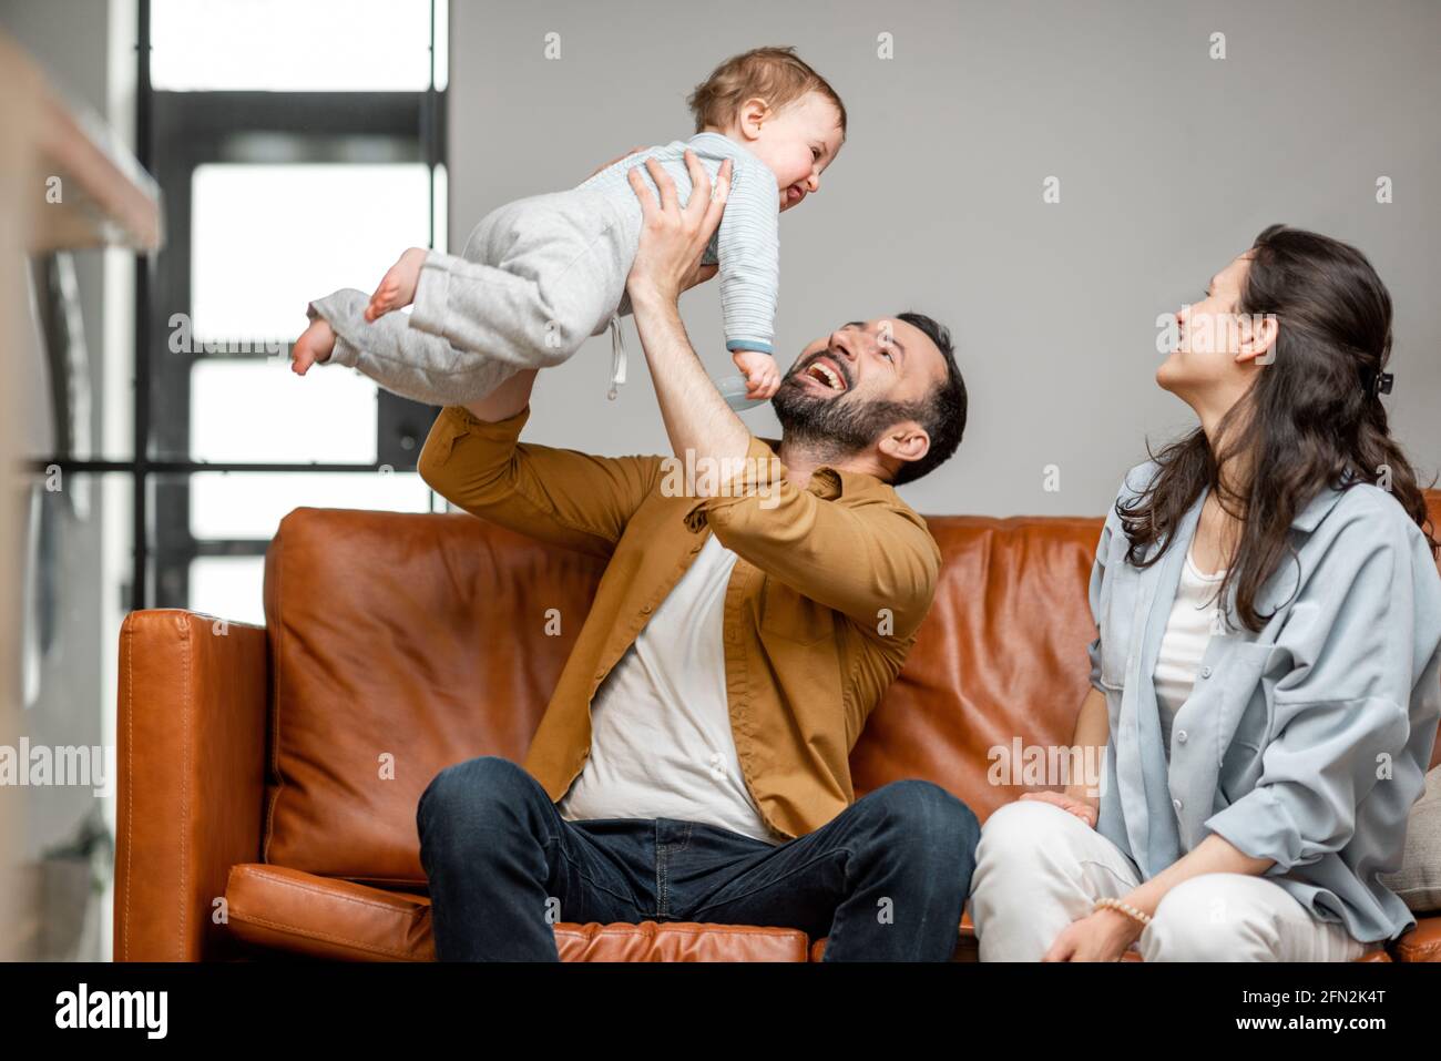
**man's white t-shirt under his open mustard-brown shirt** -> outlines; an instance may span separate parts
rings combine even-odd
[[[556,804],[568,822],[674,817],[767,843],[731,732],[725,591],[735,554],[715,535],[591,701],[591,755]]]

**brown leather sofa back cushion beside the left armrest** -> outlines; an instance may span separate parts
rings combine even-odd
[[[523,758],[602,567],[467,513],[287,515],[265,554],[265,861],[422,884],[421,793]]]

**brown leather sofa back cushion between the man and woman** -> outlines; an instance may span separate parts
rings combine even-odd
[[[941,546],[941,584],[905,667],[852,751],[857,797],[922,777],[984,820],[1025,790],[1014,767],[1027,754],[1071,742],[1089,686],[1085,649],[1095,624],[1087,585],[1101,522],[928,520]],[[1003,754],[993,758],[993,748]]]

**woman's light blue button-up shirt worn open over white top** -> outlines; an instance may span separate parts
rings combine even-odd
[[[1117,500],[1157,467],[1131,469]],[[1089,654],[1111,738],[1097,829],[1144,879],[1218,833],[1274,859],[1265,875],[1316,917],[1363,943],[1395,938],[1415,917],[1376,875],[1401,868],[1441,719],[1435,559],[1385,490],[1317,494],[1291,522],[1294,558],[1257,601],[1264,629],[1232,618],[1206,646],[1167,765],[1151,673],[1205,500],[1148,568],[1125,562],[1114,506],[1101,532]]]

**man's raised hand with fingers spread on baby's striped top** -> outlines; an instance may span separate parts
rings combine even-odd
[[[646,300],[674,306],[682,291],[709,280],[716,272],[715,265],[702,265],[700,257],[725,212],[726,195],[731,190],[731,160],[720,163],[712,193],[710,176],[705,166],[696,159],[695,151],[686,148],[692,193],[684,209],[676,196],[676,182],[661,164],[647,159],[646,169],[660,189],[660,203],[657,205],[656,196],[641,177],[640,166],[633,167],[625,177],[640,199],[641,229],[640,247],[630,277],[625,280],[625,288],[630,291],[633,306]]]

